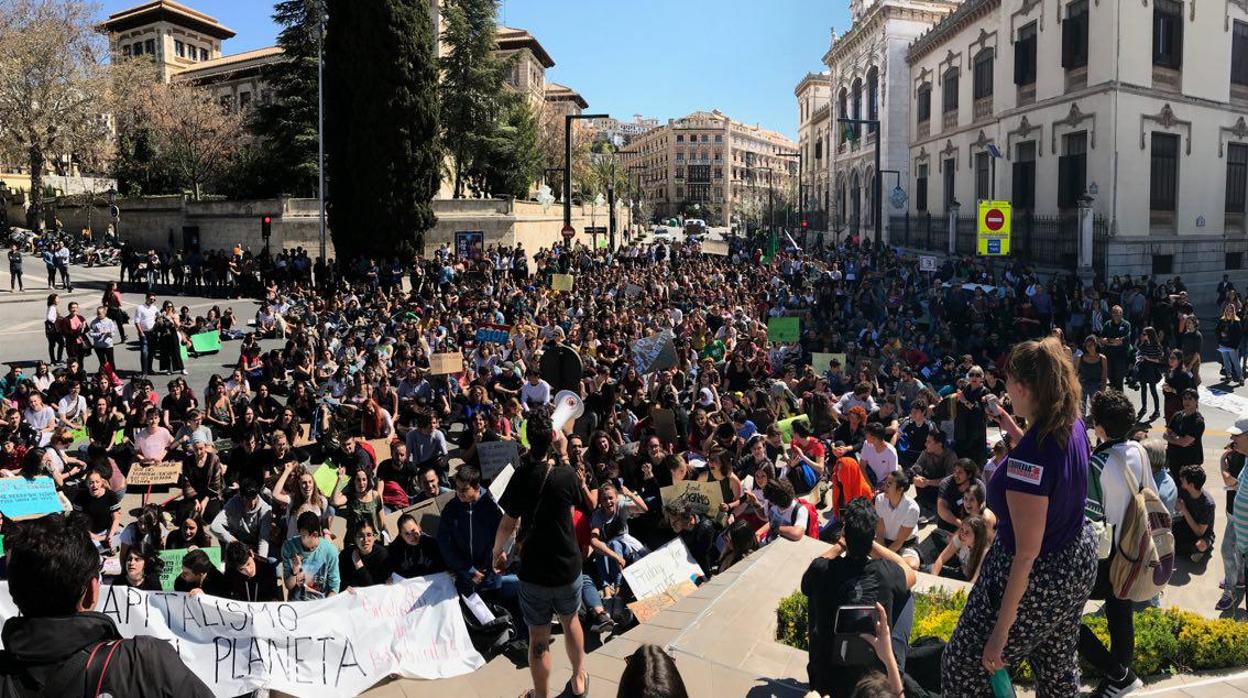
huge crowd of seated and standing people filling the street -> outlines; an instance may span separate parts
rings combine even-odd
[[[802,579],[810,684],[831,696],[854,693],[845,677],[859,674],[862,696],[894,678],[924,691],[906,671],[919,571],[975,584],[935,672],[946,694],[988,694],[992,674],[1022,658],[1040,694],[1073,694],[1076,649],[1106,677],[1099,696],[1138,686],[1132,604],[1113,596],[1109,568],[1141,488],[1173,518],[1176,554],[1224,557],[1218,608],[1239,603],[1248,504],[1216,542],[1203,337],[1179,277],[1086,286],[976,258],[925,272],[870,242],[774,247],[462,258],[443,246],[351,265],[302,251],[127,251],[141,303],[127,307],[117,285],[95,308],[62,313],[49,296],[47,361],[0,377],[0,471],[52,477],[100,556],[116,559],[117,584],[160,588],[160,552],[183,548],[176,591],[238,601],[448,572],[466,599],[528,628],[538,697],[550,618],[573,662],[569,689],[584,694],[587,631],[635,622],[624,571],[676,538],[706,576],[759,546],[832,543]],[[554,290],[557,275],[570,290]],[[158,302],[201,288],[255,297],[258,310],[196,316]],[[1242,385],[1248,308],[1229,280],[1218,295],[1224,381]],[[773,320],[790,317],[800,330],[781,338]],[[127,332],[132,375],[116,365]],[[206,332],[233,340],[222,352],[237,363],[191,385],[191,337]],[[639,341],[665,351],[634,351]],[[436,358],[449,352],[462,361],[447,372]],[[560,391],[584,406],[565,430],[552,423]],[[1124,391],[1138,391],[1138,410]],[[1158,418],[1164,438],[1139,443]],[[1223,458],[1229,488],[1246,431],[1232,430]],[[480,446],[498,441],[515,442],[518,461],[492,492]],[[181,463],[178,483],[124,512],[127,473],[167,462]],[[324,463],[332,484],[317,477]],[[720,509],[665,502],[686,479],[718,487]],[[429,499],[436,532],[408,512]],[[1080,629],[1090,596],[1106,599],[1108,649]],[[837,611],[876,603],[879,658],[836,662]]]

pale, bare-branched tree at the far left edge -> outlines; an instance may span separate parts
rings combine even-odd
[[[96,169],[111,155],[107,46],[81,0],[0,2],[0,147],[30,167],[26,224],[39,229],[49,161]]]

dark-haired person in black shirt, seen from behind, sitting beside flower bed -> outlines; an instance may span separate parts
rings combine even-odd
[[[875,542],[875,508],[866,499],[845,506],[840,538],[806,568],[801,592],[809,599],[810,688],[820,696],[847,698],[854,684],[879,662],[845,666],[836,656],[836,614],[841,606],[880,603],[891,628],[892,651],[905,671],[914,622],[910,589],[916,574],[897,553]]]

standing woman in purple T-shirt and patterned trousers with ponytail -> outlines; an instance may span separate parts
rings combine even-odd
[[[1096,538],[1083,517],[1088,440],[1080,382],[1053,337],[1015,346],[1006,390],[1027,431],[1001,412],[1018,446],[988,481],[997,537],[942,659],[946,696],[992,696],[1002,668],[1031,663],[1036,694],[1078,694],[1080,614],[1096,581]]]

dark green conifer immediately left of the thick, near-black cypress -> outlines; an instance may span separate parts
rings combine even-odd
[[[311,196],[319,187],[317,104],[317,6],[321,0],[281,0],[273,21],[282,30],[277,45],[283,60],[265,69],[270,99],[256,107],[248,124],[257,137],[253,157],[260,166],[240,172],[250,196],[290,194]]]

